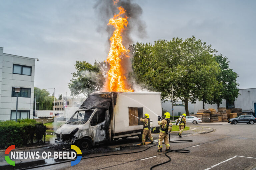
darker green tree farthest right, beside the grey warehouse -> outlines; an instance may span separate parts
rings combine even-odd
[[[228,58],[220,54],[215,56],[215,60],[221,69],[217,75],[217,80],[219,84],[222,84],[222,87],[220,88],[220,95],[214,97],[214,102],[219,107],[222,99],[225,99],[229,103],[233,103],[236,100],[239,95],[239,84],[236,81],[238,74],[229,68]]]

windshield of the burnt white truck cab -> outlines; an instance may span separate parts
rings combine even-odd
[[[92,115],[93,110],[83,110],[83,111],[77,111],[66,124],[72,124],[72,125],[81,125],[85,124],[90,116]]]

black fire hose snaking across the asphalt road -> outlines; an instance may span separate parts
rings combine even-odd
[[[169,143],[184,143],[184,142],[193,142],[193,140],[173,140],[170,141]],[[153,146],[157,146],[157,144],[149,146],[148,148],[144,149],[144,150],[140,150],[140,151],[135,151],[135,152],[128,152],[128,153],[115,153],[115,154],[108,154],[108,155],[99,155],[99,156],[91,156],[91,157],[83,157],[82,159],[89,159],[89,158],[97,158],[97,157],[103,157],[103,156],[112,156],[112,155],[124,155],[124,154],[132,154],[132,153],[139,153],[139,152],[144,152],[146,150],[148,150],[149,148],[153,147]],[[166,164],[168,162],[171,161],[171,158],[167,155],[167,153],[169,152],[178,152],[178,153],[189,153],[190,150],[186,150],[186,149],[177,149],[177,150],[170,150],[168,152],[165,152],[165,156],[169,158],[168,161],[166,162],[162,162],[159,164],[156,164],[154,166],[152,166],[150,168],[150,170],[152,170],[154,167],[159,166],[159,165],[163,165]],[[35,167],[27,167],[27,168],[22,168],[20,170],[25,170],[25,169],[31,169],[31,168],[40,168],[40,167],[45,167],[45,166],[51,166],[51,165],[56,165],[56,164],[61,164],[61,163],[66,163],[66,162],[71,162],[72,160],[66,160],[66,161],[60,161],[60,162],[56,162],[56,163],[52,163],[52,164],[45,164],[45,165],[39,165],[39,166],[35,166]]]

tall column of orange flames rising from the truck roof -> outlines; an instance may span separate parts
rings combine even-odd
[[[114,1],[114,4],[118,1]],[[126,77],[123,75],[122,66],[121,66],[121,56],[129,57],[127,52],[129,50],[125,49],[122,44],[123,37],[122,32],[128,25],[127,16],[125,15],[126,11],[121,6],[118,7],[119,14],[115,14],[108,22],[108,25],[113,25],[115,31],[113,32],[112,37],[109,39],[110,49],[107,57],[107,61],[110,64],[110,69],[108,71],[108,80],[109,80],[109,90],[116,92],[133,92],[132,89],[127,89],[125,87]],[[123,16],[123,17],[122,17]]]

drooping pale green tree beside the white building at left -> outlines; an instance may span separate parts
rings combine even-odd
[[[36,109],[34,108],[35,110],[52,110],[53,109],[54,96],[51,96],[46,89],[40,89],[38,87],[34,87],[34,107],[35,107],[35,99],[37,103]]]

